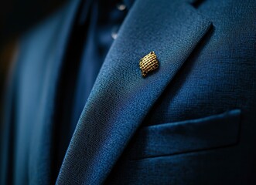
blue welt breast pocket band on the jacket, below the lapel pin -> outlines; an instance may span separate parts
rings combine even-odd
[[[216,116],[163,123],[139,130],[131,143],[132,160],[210,150],[238,142],[241,110]]]

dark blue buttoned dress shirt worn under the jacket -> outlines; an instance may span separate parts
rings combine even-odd
[[[56,94],[57,176],[97,74],[132,1],[82,1],[70,35]]]

